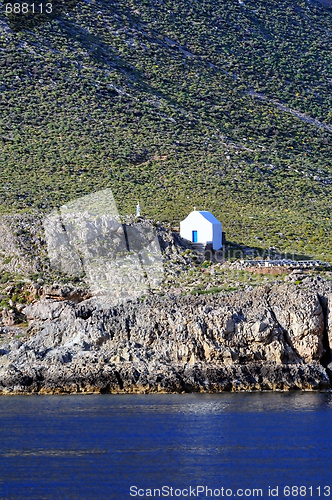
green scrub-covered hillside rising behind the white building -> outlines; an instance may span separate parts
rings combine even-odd
[[[120,213],[196,205],[230,241],[332,262],[328,2],[0,7],[0,212],[112,188]]]

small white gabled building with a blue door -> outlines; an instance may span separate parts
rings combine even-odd
[[[222,248],[221,222],[211,212],[194,210],[180,222],[180,236],[192,243],[212,243],[213,250]]]

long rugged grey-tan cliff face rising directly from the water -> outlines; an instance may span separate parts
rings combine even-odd
[[[43,298],[25,309],[27,337],[1,346],[0,390],[329,389],[331,307],[331,282],[319,278],[114,307]]]

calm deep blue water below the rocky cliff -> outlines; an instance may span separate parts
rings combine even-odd
[[[331,394],[0,397],[0,426],[4,499],[332,498]]]

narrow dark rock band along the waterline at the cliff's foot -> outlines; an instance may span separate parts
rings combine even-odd
[[[108,380],[114,375],[110,370],[109,377],[95,379],[95,383],[86,383],[84,378],[75,382],[66,380],[55,383],[51,380],[37,382],[30,379],[23,385],[18,380],[0,380],[0,395],[89,395],[89,394],[222,394],[222,393],[260,393],[260,392],[332,392],[332,384],[328,371],[319,363],[289,365],[237,365],[210,366],[201,368],[193,366],[186,373],[181,369],[165,374],[163,385],[152,380],[146,385],[133,384],[128,377],[122,384],[113,385]],[[136,367],[137,369],[137,367]],[[119,372],[115,370],[115,373]],[[193,375],[194,374],[194,375]],[[167,376],[168,375],[168,376]],[[90,373],[87,378],[92,380]],[[156,377],[158,378],[158,376]],[[194,382],[195,380],[195,382]],[[155,382],[155,383],[153,383]]]

